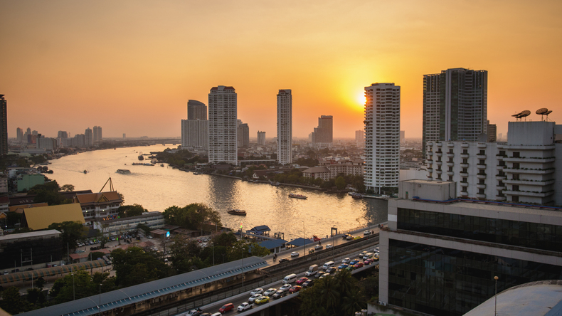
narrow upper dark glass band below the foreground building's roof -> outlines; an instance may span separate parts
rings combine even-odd
[[[398,229],[545,251],[562,249],[562,226],[543,223],[398,209]]]

